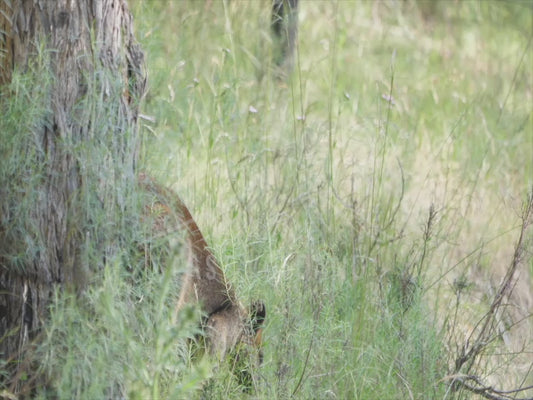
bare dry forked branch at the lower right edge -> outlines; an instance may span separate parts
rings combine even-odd
[[[520,236],[518,238],[518,242],[515,246],[515,251],[513,253],[513,259],[511,262],[511,265],[509,266],[509,269],[507,270],[507,273],[505,274],[505,277],[503,279],[502,284],[500,285],[500,288],[498,292],[496,293],[494,300],[492,301],[492,304],[489,308],[489,311],[485,314],[485,316],[480,320],[484,321],[483,326],[477,335],[476,340],[474,341],[473,345],[470,346],[470,349],[466,351],[468,348],[468,339],[467,343],[463,347],[462,354],[455,360],[455,374],[452,377],[451,385],[460,386],[472,393],[476,393],[481,395],[482,397],[490,400],[507,400],[507,399],[516,399],[516,400],[528,400],[526,398],[524,399],[518,399],[516,397],[510,397],[506,393],[518,393],[519,391],[527,390],[530,388],[525,389],[515,389],[510,391],[500,391],[496,390],[490,386],[484,386],[481,384],[479,378],[471,375],[459,375],[460,370],[465,365],[465,363],[469,362],[468,371],[472,367],[472,365],[475,362],[476,357],[486,348],[487,344],[490,343],[490,337],[492,336],[492,329],[494,319],[496,318],[496,313],[499,310],[499,308],[502,305],[502,301],[505,298],[506,295],[510,295],[512,292],[512,280],[514,277],[514,274],[516,272],[516,269],[518,268],[518,265],[521,263],[523,254],[524,254],[524,240],[525,240],[525,233],[529,226],[533,223],[533,188],[528,195],[528,199],[526,201],[526,205],[524,207],[524,210],[522,212],[522,224],[520,229]],[[467,371],[467,372],[468,372]],[[467,383],[464,378],[467,378],[467,380],[474,381],[477,385],[481,387],[475,387],[471,384]]]

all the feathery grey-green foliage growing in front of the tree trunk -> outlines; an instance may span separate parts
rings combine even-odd
[[[40,137],[43,126],[51,124],[50,94],[58,84],[48,70],[48,56],[39,48],[25,71],[14,71],[0,88],[0,259],[2,268],[12,268],[10,274],[30,279],[46,242],[35,205],[49,200],[40,190],[43,182],[57,184],[48,181],[57,171]],[[84,182],[63,210],[69,213],[69,233],[83,232],[80,257],[72,270],[64,266],[61,271],[66,284],[39,288],[52,301],[38,316],[46,324],[16,358],[10,354],[0,360],[0,397],[186,398],[213,366],[207,360],[189,365],[185,338],[198,333],[193,310],[177,321],[173,317],[185,257],[180,246],[164,244],[179,238],[152,237],[149,217],[141,217],[145,195],[135,192],[133,177],[119,179],[120,167],[133,162],[136,147],[131,132],[111,134],[119,126],[119,102],[112,99],[121,95],[121,82],[101,70],[86,79],[87,95],[70,115],[73,123],[87,127],[85,140],[62,132],[56,143],[76,160]],[[100,96],[103,81],[107,97]],[[102,182],[115,185],[104,191]],[[104,198],[108,209],[102,207]],[[164,268],[158,264],[162,253],[173,255]],[[11,293],[12,288],[2,290]],[[16,327],[1,332],[0,341],[17,334]]]

